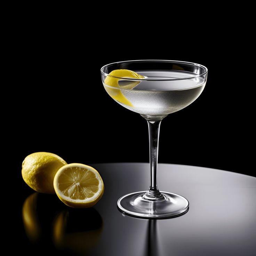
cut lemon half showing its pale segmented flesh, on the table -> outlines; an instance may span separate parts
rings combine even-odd
[[[87,208],[101,199],[104,184],[93,167],[82,163],[70,163],[57,171],[54,189],[58,198],[67,206]]]

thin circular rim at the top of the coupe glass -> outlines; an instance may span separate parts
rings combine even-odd
[[[193,77],[184,77],[184,78],[173,78],[173,79],[148,79],[148,78],[142,78],[142,79],[138,79],[138,78],[127,78],[127,77],[117,77],[115,75],[110,75],[110,74],[107,74],[103,71],[104,67],[106,66],[109,66],[111,64],[117,64],[117,63],[125,63],[125,62],[139,62],[139,61],[155,61],[155,62],[176,62],[176,63],[183,63],[183,64],[190,64],[190,65],[194,65],[194,66],[199,66],[199,67],[202,67],[205,72],[203,72],[202,74],[198,74],[198,75],[194,75]],[[104,74],[105,76],[107,77],[114,77],[114,78],[119,78],[119,79],[125,79],[125,80],[132,80],[132,81],[175,81],[175,80],[185,80],[185,79],[192,79],[192,78],[197,78],[197,77],[201,77],[205,74],[208,73],[208,69],[206,66],[203,66],[201,64],[198,64],[198,63],[193,63],[193,62],[187,62],[187,61],[174,61],[174,60],[166,60],[166,59],[137,59],[137,60],[134,60],[134,61],[119,61],[119,62],[113,62],[113,63],[109,63],[109,64],[106,64],[104,65],[102,68],[101,68],[101,73]]]

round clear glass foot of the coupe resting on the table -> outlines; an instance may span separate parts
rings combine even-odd
[[[162,199],[148,200],[143,195],[146,191],[130,193],[121,197],[118,208],[125,214],[141,218],[168,218],[186,213],[189,201],[181,195],[162,192]]]

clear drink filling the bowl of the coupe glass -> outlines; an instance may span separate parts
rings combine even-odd
[[[135,71],[137,72],[137,71]],[[120,105],[139,114],[145,115],[166,115],[183,109],[191,104],[201,94],[205,87],[205,77],[189,78],[183,80],[170,80],[176,78],[193,77],[196,74],[185,71],[138,71],[146,79],[158,79],[159,81],[141,81],[133,89],[129,84],[131,80],[120,80],[119,86],[123,96],[125,96],[133,106],[128,106],[115,99]],[[109,93],[109,86],[104,84]],[[109,93],[111,96],[111,94]]]

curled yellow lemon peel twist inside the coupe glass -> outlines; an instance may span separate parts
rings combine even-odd
[[[140,75],[134,71],[128,70],[128,69],[116,69],[109,73],[109,75],[114,75],[115,77],[123,77],[123,78],[135,78],[135,79],[143,79],[143,75]],[[122,89],[133,89],[135,86],[137,86],[140,81],[130,81],[130,83],[126,86],[120,86],[118,81],[121,80],[121,78],[115,78],[115,77],[109,77],[107,76],[105,79],[105,84],[112,87],[122,88]],[[110,87],[105,87],[107,93],[117,101],[128,105],[130,107],[133,107],[133,104],[122,94],[120,89],[114,89]]]

